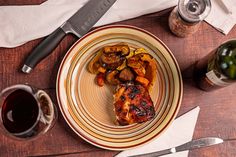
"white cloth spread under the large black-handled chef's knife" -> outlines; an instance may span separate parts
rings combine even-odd
[[[0,47],[16,47],[46,36],[88,0],[48,0],[41,5],[0,6]],[[158,12],[178,0],[117,0],[95,26]]]

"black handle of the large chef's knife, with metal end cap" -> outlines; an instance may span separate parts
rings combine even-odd
[[[65,35],[66,33],[60,27],[57,28],[30,53],[21,70],[30,73],[41,60],[52,53]]]

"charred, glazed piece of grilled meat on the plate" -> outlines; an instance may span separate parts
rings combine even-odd
[[[155,116],[148,90],[142,85],[122,84],[114,94],[114,107],[120,125],[142,123]]]

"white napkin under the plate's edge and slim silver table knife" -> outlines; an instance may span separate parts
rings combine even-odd
[[[125,150],[116,157],[127,157],[144,153],[151,153],[181,145],[192,140],[194,128],[197,122],[200,108],[196,107],[184,115],[178,117],[170,127],[158,138],[146,145],[135,149]],[[166,155],[166,157],[187,157],[188,151]]]

